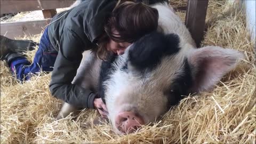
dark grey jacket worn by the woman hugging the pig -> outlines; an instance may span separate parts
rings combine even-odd
[[[48,26],[50,42],[58,52],[51,76],[52,95],[71,105],[93,108],[95,94],[71,84],[82,60],[82,52],[90,50],[95,38],[103,32],[105,18],[114,9],[115,0],[87,0],[58,13]]]

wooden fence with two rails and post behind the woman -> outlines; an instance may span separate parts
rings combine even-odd
[[[56,9],[69,7],[75,0],[26,0],[13,1],[1,0],[1,14],[42,10],[44,20],[1,22],[1,35],[9,38],[25,35],[40,34],[43,27],[50,23],[51,18],[57,13]]]

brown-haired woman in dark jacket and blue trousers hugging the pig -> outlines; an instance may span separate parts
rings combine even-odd
[[[97,108],[106,116],[106,106],[97,94],[71,84],[82,52],[92,50],[101,59],[109,51],[123,54],[127,46],[156,30],[157,25],[157,10],[143,3],[88,0],[54,16],[31,65],[19,53],[2,56],[20,81],[28,80],[29,73],[52,71],[50,91],[54,97],[76,107]]]

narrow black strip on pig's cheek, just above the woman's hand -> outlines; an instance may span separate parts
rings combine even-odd
[[[117,59],[116,54],[109,54],[107,56],[106,61],[102,61],[101,68],[100,68],[100,78],[99,78],[99,97],[102,99],[102,101],[106,104],[105,101],[105,89],[103,87],[103,82],[107,81],[109,79],[109,76],[113,74],[114,72],[114,66],[113,63]]]

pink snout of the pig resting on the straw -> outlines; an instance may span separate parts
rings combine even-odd
[[[143,118],[131,111],[123,111],[116,116],[116,127],[123,133],[132,133],[145,124]]]

